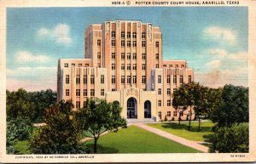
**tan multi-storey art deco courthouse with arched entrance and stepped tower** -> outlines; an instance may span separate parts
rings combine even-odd
[[[118,101],[125,118],[177,119],[172,93],[193,82],[185,60],[164,60],[160,27],[137,20],[93,24],[84,33],[85,59],[60,59],[58,100]],[[184,117],[184,116],[183,116]]]

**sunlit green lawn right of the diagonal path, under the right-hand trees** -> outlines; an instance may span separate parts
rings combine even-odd
[[[206,141],[212,137],[212,122],[201,122],[201,131],[198,132],[198,122],[191,122],[191,129],[189,131],[189,122],[166,122],[166,123],[148,123],[150,127],[158,128],[166,133],[172,133],[184,139],[193,141]]]

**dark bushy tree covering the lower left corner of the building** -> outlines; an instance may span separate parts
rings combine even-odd
[[[74,154],[86,153],[79,144],[81,135],[73,120],[71,100],[61,101],[45,110],[44,121],[33,136],[29,148],[33,154]]]

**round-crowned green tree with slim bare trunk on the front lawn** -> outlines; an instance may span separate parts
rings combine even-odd
[[[117,132],[119,127],[126,127],[126,121],[120,116],[119,103],[108,103],[104,99],[88,99],[84,108],[75,116],[77,126],[86,137],[94,139],[94,152],[100,135],[106,131]]]

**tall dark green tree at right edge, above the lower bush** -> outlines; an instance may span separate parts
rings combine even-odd
[[[225,85],[219,105],[212,111],[212,122],[218,127],[248,122],[248,88]]]

